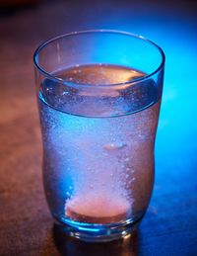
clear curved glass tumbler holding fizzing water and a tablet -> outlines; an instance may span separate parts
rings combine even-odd
[[[85,31],[42,43],[33,61],[53,217],[86,241],[131,233],[153,190],[163,50],[129,33]]]

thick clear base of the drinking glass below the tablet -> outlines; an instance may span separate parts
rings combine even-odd
[[[142,217],[137,220],[128,219],[111,224],[81,223],[65,217],[61,219],[54,217],[54,219],[55,223],[67,235],[86,242],[106,242],[130,236]]]

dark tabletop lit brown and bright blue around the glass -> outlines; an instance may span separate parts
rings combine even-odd
[[[42,1],[1,10],[0,255],[197,255],[195,13],[194,1]],[[166,54],[152,201],[130,239],[104,244],[76,241],[53,225],[33,82],[39,43],[95,28],[144,35]]]

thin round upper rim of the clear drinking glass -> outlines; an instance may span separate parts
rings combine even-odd
[[[145,43],[149,43],[153,46],[155,46],[158,51],[160,52],[161,54],[161,57],[162,57],[162,61],[161,63],[158,65],[157,68],[155,68],[155,70],[153,72],[150,72],[149,74],[145,74],[144,76],[142,77],[139,77],[137,79],[134,79],[134,80],[131,80],[131,81],[126,81],[126,82],[120,82],[120,83],[105,83],[105,84],[86,84],[86,83],[75,83],[75,82],[72,82],[72,81],[69,81],[69,80],[65,80],[65,79],[62,79],[60,77],[57,77],[53,74],[50,74],[49,72],[47,72],[47,70],[45,70],[44,68],[41,67],[41,65],[38,64],[38,61],[37,61],[37,56],[39,54],[39,52],[46,46],[48,45],[49,43],[53,43],[55,41],[58,41],[60,39],[63,39],[63,38],[67,38],[67,37],[73,37],[73,36],[78,36],[78,35],[81,35],[81,34],[93,34],[93,33],[109,33],[109,34],[118,34],[118,35],[123,35],[123,36],[128,36],[128,37],[131,37],[131,38],[135,38],[135,39],[138,39],[138,40],[142,40],[144,41]],[[61,83],[61,84],[64,84],[67,85],[67,86],[71,86],[71,87],[79,87],[79,86],[82,86],[82,87],[97,87],[97,88],[101,88],[101,87],[104,87],[104,88],[108,88],[108,87],[115,87],[115,86],[125,86],[125,85],[132,85],[132,84],[135,84],[136,82],[140,82],[140,81],[143,81],[143,80],[146,80],[150,77],[152,77],[153,75],[155,75],[156,73],[158,73],[163,67],[164,67],[164,61],[165,61],[165,55],[164,55],[164,50],[162,49],[162,47],[160,47],[157,43],[154,43],[153,41],[143,37],[143,36],[140,36],[140,35],[136,35],[136,34],[133,34],[133,33],[129,33],[129,32],[124,32],[124,31],[118,31],[118,30],[102,30],[102,29],[99,29],[99,30],[85,30],[85,31],[77,31],[77,32],[71,32],[71,33],[67,33],[67,34],[62,34],[62,35],[59,35],[57,37],[53,37],[41,44],[39,44],[39,46],[35,49],[34,53],[33,53],[33,64],[34,66],[37,68],[37,70],[42,73],[46,78],[49,78],[57,83]],[[127,67],[127,66],[126,66]]]

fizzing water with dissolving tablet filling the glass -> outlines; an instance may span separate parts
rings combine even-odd
[[[43,181],[54,217],[65,223],[135,221],[154,182],[160,94],[152,79],[115,65],[81,65],[45,79],[38,104]],[[111,84],[108,86],[108,84]]]

